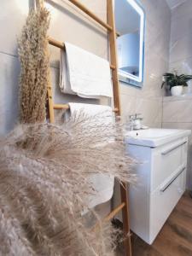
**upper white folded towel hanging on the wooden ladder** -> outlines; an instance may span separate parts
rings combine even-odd
[[[60,61],[61,91],[87,98],[112,97],[109,62],[73,44],[65,46]]]

